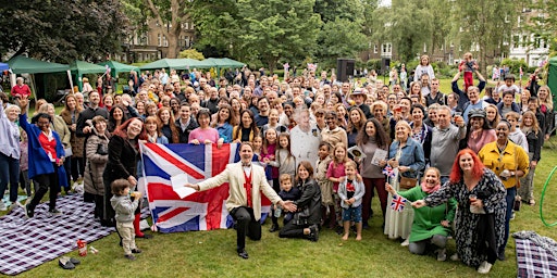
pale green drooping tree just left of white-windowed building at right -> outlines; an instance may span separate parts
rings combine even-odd
[[[508,50],[510,33],[519,11],[516,1],[468,0],[455,1],[453,34],[462,52],[478,53],[481,72],[485,73],[488,59]]]

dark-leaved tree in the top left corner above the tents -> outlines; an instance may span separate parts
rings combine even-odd
[[[0,7],[0,53],[67,63],[120,50],[127,18],[117,0],[18,0]]]

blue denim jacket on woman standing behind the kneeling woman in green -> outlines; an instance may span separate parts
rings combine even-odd
[[[398,146],[399,142],[397,140],[394,140],[393,143],[391,143],[391,147],[388,148],[389,160],[396,156]],[[425,167],[425,156],[423,154],[422,146],[412,138],[408,138],[406,146],[403,147],[403,153],[400,154],[398,164],[400,166],[410,167],[410,170],[403,173],[403,176],[407,178],[417,178],[418,174],[420,174],[420,172]]]

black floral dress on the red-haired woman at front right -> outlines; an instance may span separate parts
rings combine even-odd
[[[476,232],[478,223],[484,215],[470,212],[470,194],[482,199],[485,212],[494,214],[496,250],[498,250],[504,244],[507,193],[499,178],[491,169],[484,168],[482,178],[471,191],[468,191],[463,180],[458,184],[447,182],[440,190],[426,197],[424,201],[429,206],[435,206],[451,197],[457,200],[459,204],[455,217],[457,253],[465,264],[476,267],[487,260],[486,253],[476,248],[480,236]]]

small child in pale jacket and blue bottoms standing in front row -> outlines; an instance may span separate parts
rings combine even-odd
[[[356,240],[361,240],[361,200],[366,189],[363,182],[357,180],[357,165],[354,161],[344,164],[346,178],[338,185],[338,197],[343,207],[343,240],[348,240],[350,220],[356,224]]]

